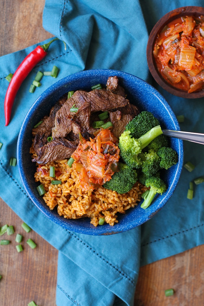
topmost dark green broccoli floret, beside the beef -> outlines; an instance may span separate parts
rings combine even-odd
[[[126,125],[125,131],[130,131],[132,137],[137,139],[157,125],[159,125],[158,119],[152,113],[144,111]]]

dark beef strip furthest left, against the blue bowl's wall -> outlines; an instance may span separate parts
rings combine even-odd
[[[61,108],[61,104],[57,102],[55,106],[53,106],[50,110],[50,116],[45,116],[43,118],[43,122],[37,126],[35,129],[33,129],[33,132],[36,132],[35,138],[34,138],[34,150],[37,152],[37,150],[44,146],[47,142],[47,137],[51,134],[51,129],[54,126],[54,118],[57,113],[57,110]]]

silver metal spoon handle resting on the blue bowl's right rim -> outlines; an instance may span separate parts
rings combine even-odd
[[[204,134],[201,133],[191,133],[191,132],[181,132],[181,131],[171,131],[171,130],[162,130],[162,132],[166,136],[196,142],[197,144],[204,144]]]

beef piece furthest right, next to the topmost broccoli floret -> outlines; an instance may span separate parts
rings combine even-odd
[[[125,126],[128,122],[138,114],[138,108],[130,103],[125,107],[120,107],[118,110],[109,111],[110,121],[113,124],[112,132],[114,136],[119,138],[124,132]]]

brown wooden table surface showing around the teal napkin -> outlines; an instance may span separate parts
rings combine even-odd
[[[44,0],[1,0],[0,56],[52,36],[42,27],[43,7]],[[0,305],[27,306],[34,300],[39,306],[55,306],[57,250],[37,233],[25,233],[22,220],[1,199],[0,207],[0,224],[13,225],[16,233],[24,235],[24,252],[14,249],[15,235],[9,237],[13,248],[0,247]],[[37,242],[34,250],[25,243],[29,237]],[[203,258],[202,245],[141,267],[135,306],[204,305]],[[175,294],[165,297],[164,290],[169,288]]]

